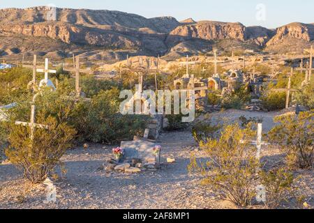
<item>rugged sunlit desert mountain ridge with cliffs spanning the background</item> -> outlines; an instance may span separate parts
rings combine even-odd
[[[91,59],[124,59],[126,54],[169,56],[222,51],[303,52],[314,41],[314,24],[293,22],[277,29],[240,22],[179,22],[171,16],[146,18],[113,10],[50,7],[0,9],[0,56],[71,53]],[[52,51],[51,51],[52,50]]]

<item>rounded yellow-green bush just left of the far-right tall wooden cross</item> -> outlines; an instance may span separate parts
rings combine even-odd
[[[264,108],[268,109],[269,111],[284,109],[286,93],[269,91],[268,93],[262,95],[261,100],[262,100],[262,105],[264,106]]]

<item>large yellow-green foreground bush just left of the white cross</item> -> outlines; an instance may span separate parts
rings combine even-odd
[[[209,157],[201,165],[205,175],[202,183],[214,186],[225,199],[242,207],[250,205],[255,196],[253,185],[259,164],[255,158],[256,148],[246,142],[253,135],[251,128],[241,129],[234,124],[225,127],[219,139],[209,139],[201,144]],[[245,141],[241,143],[241,140]]]

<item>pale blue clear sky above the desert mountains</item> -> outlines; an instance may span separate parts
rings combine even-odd
[[[171,15],[177,20],[241,22],[246,26],[276,28],[290,22],[314,22],[313,0],[0,0],[0,8],[27,8],[54,4],[59,8],[119,10],[144,17]],[[257,20],[257,5],[264,4],[265,20]]]

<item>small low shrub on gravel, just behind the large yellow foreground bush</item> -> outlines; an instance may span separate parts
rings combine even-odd
[[[192,127],[192,135],[198,144],[207,143],[209,139],[215,139],[219,130],[223,127],[220,119],[212,116],[205,117],[204,121],[197,121]]]

